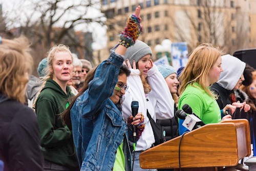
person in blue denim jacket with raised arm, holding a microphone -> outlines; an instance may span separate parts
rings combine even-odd
[[[131,170],[127,126],[120,108],[130,72],[122,67],[122,55],[141,32],[139,14],[138,6],[115,51],[97,67],[91,81],[89,72],[83,90],[62,115],[72,129],[81,170]],[[140,116],[136,118],[140,121]]]

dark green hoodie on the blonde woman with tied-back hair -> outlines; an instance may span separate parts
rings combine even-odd
[[[66,92],[67,94],[54,80],[49,79],[36,100],[35,110],[45,159],[75,168],[79,165],[72,132],[63,125],[59,117],[59,114],[66,110],[73,96],[69,87]]]

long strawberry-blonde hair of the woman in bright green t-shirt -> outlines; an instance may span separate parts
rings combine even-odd
[[[179,94],[181,95],[184,92],[188,84],[191,83],[193,86],[195,82],[198,82],[209,96],[217,98],[217,96],[208,89],[206,78],[209,70],[221,55],[222,51],[211,44],[201,44],[194,49],[189,56],[186,67],[179,77]]]

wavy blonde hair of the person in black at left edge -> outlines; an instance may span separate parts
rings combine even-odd
[[[0,93],[20,103],[26,101],[25,89],[32,73],[29,46],[24,36],[13,40],[3,38],[0,44]]]

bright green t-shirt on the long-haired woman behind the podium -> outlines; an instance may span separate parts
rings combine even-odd
[[[195,86],[195,87],[194,87]],[[216,99],[209,96],[199,83],[189,84],[179,99],[178,109],[188,104],[192,111],[205,123],[221,121],[221,112]]]

